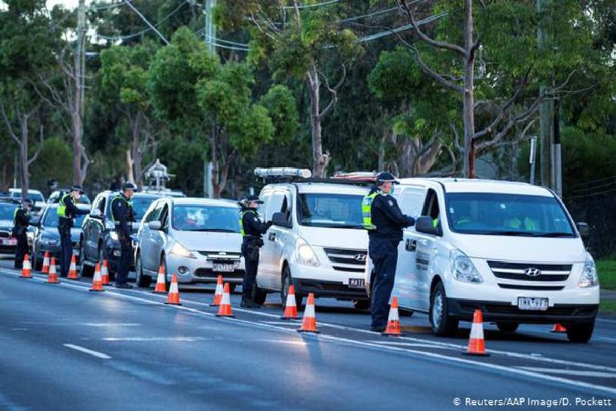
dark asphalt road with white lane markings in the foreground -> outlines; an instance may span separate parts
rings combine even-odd
[[[246,310],[236,293],[236,318],[219,319],[211,290],[180,288],[183,305],[166,306],[151,290],[23,280],[10,262],[0,262],[0,409],[610,409],[616,399],[611,319],[589,344],[486,324],[490,356],[469,357],[468,327],[437,338],[424,315],[402,317],[405,336],[388,338],[368,331],[367,312],[322,299],[322,333],[304,335],[280,320],[277,295]],[[593,398],[612,406],[582,407]]]

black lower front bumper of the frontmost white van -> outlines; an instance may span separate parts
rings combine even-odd
[[[476,301],[447,298],[448,314],[455,319],[472,321],[476,309],[482,311],[484,321],[554,324],[557,322],[592,322],[599,304],[554,304],[547,311],[522,311],[503,301]]]

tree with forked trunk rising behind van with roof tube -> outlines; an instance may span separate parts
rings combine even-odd
[[[331,113],[347,75],[347,65],[362,54],[362,47],[349,29],[340,29],[344,7],[304,7],[293,0],[291,6],[275,0],[226,0],[216,9],[217,22],[225,28],[251,23],[249,60],[255,65],[267,62],[274,79],[299,78],[309,94],[310,138],[313,175],[323,177],[330,154],[323,149],[322,123]],[[325,60],[339,62],[334,84],[322,70]],[[329,101],[322,104],[322,92]]]

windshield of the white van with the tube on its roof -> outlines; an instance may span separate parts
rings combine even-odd
[[[299,194],[299,224],[314,227],[362,229],[361,195]]]

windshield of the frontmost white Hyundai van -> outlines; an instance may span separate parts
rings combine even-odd
[[[499,193],[449,193],[446,209],[453,232],[520,237],[575,237],[554,197]]]

